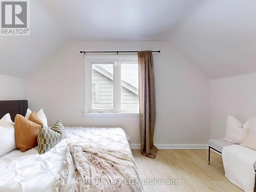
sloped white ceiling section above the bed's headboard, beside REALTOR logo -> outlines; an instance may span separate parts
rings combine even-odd
[[[0,74],[25,77],[65,38],[40,0],[30,1],[30,36],[0,36]]]

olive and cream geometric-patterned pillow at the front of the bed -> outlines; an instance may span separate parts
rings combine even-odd
[[[42,125],[37,137],[39,154],[46,153],[61,140],[62,136],[58,132]]]

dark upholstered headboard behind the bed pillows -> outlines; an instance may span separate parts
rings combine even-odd
[[[25,116],[28,109],[28,100],[0,101],[0,119],[7,113],[10,113],[12,121],[15,115]]]

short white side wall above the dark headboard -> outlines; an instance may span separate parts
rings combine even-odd
[[[0,100],[24,99],[24,80],[0,75]]]

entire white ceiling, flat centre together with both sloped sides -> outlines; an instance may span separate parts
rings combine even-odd
[[[255,0],[33,0],[30,36],[0,36],[0,74],[24,77],[69,39],[169,40],[210,78],[256,72]]]

